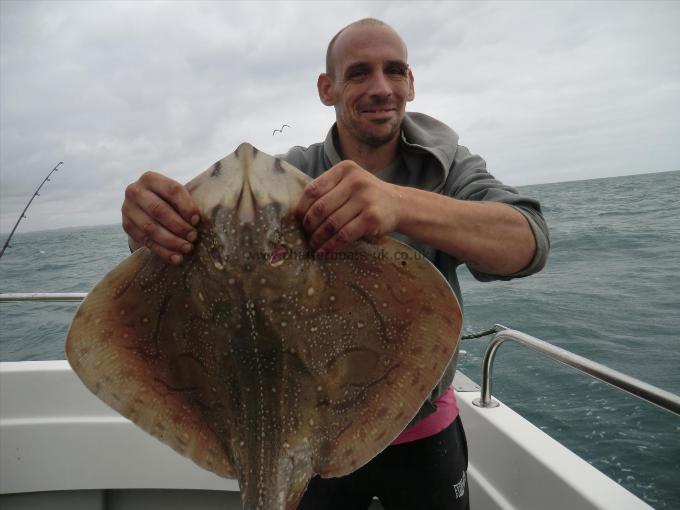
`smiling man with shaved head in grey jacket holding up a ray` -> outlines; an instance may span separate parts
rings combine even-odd
[[[292,148],[284,159],[314,177],[296,209],[317,254],[364,236],[392,234],[427,256],[459,300],[456,267],[480,280],[540,270],[549,241],[534,200],[486,172],[484,161],[439,121],[405,113],[415,96],[406,45],[374,19],[332,40],[317,83],[336,124],[325,142]],[[181,263],[196,240],[198,211],[178,183],[147,172],[128,186],[123,226],[132,249],[146,244]],[[315,478],[303,510],[468,508],[467,446],[450,388],[456,360],[393,445],[355,473]]]

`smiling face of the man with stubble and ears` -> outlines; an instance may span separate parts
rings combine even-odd
[[[334,76],[319,78],[319,95],[335,106],[338,129],[370,147],[393,140],[415,95],[402,40],[381,25],[353,27],[338,37],[333,56]]]

